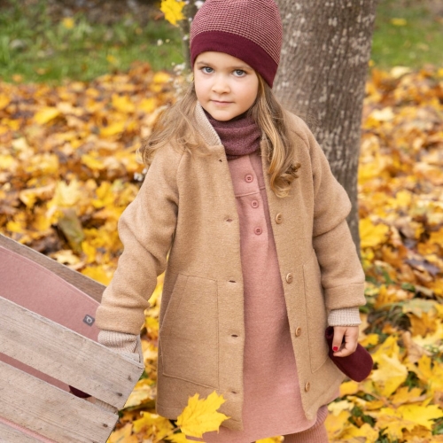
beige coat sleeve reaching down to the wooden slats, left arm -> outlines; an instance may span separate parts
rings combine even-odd
[[[176,173],[181,154],[165,147],[156,153],[136,198],[119,220],[123,244],[117,270],[97,308],[97,327],[139,334],[144,310],[167,265],[178,211]]]

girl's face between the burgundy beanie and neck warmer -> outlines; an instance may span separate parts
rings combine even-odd
[[[253,68],[224,52],[207,51],[194,62],[198,102],[215,120],[227,121],[254,103],[259,78]]]

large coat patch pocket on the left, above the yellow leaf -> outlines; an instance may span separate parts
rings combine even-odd
[[[159,331],[163,374],[219,387],[217,282],[179,274]]]

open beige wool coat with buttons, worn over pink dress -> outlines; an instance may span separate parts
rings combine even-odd
[[[346,224],[346,191],[304,121],[290,120],[301,167],[289,197],[270,190],[268,160],[261,159],[301,401],[313,419],[344,377],[328,357],[328,312],[365,304],[364,274]],[[223,425],[241,430],[245,317],[236,198],[224,147],[200,105],[195,124],[206,155],[160,149],[120,217],[124,252],[97,326],[138,334],[156,277],[166,269],[157,412],[175,419],[190,396],[216,390],[226,399],[220,411],[230,416]]]

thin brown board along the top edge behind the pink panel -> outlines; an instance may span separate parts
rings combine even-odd
[[[0,234],[0,246],[35,261],[35,263],[43,266],[43,268],[49,269],[66,282],[74,284],[75,287],[88,294],[89,297],[96,299],[98,302],[102,299],[105,286],[92,280],[88,276],[83,276],[80,272],[67,268],[67,266],[58,263],[58,261],[52,260],[42,253],[37,253],[26,245],[20,245],[18,242],[12,240],[12,238],[4,237],[2,234]]]

